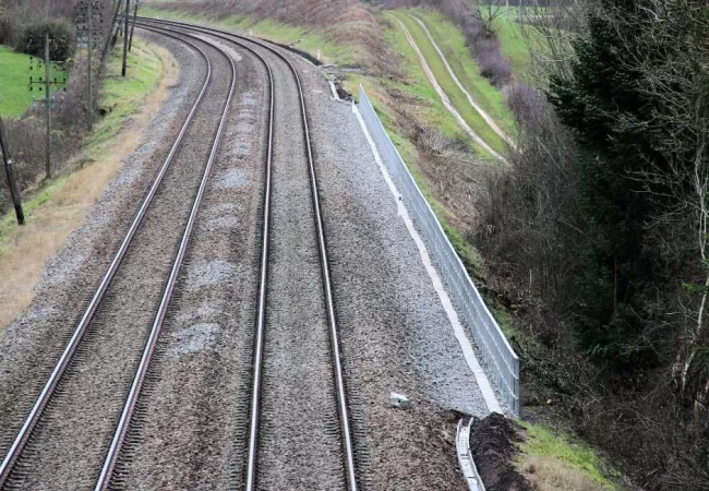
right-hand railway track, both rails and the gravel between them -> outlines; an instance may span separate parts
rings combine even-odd
[[[337,320],[298,71],[278,49],[257,40],[182,23],[141,22],[235,44],[268,73],[271,118],[243,489],[354,491]],[[286,137],[293,133],[302,139]]]

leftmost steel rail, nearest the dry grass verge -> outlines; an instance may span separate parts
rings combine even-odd
[[[153,185],[151,187],[147,195],[143,200],[143,203],[137,211],[137,214],[135,215],[135,218],[133,219],[133,223],[131,224],[131,227],[128,230],[128,233],[123,238],[123,241],[121,242],[121,246],[118,249],[118,252],[113,256],[113,260],[111,261],[108,271],[104,275],[101,283],[98,286],[98,289],[92,297],[91,302],[88,303],[86,310],[84,311],[79,324],[76,325],[76,328],[74,330],[74,333],[72,337],[69,339],[69,343],[64,347],[63,352],[61,354],[61,357],[59,358],[57,364],[55,366],[55,369],[52,370],[51,374],[49,375],[49,379],[47,380],[46,384],[44,385],[39,396],[37,397],[32,410],[27,415],[27,418],[25,419],[25,422],[23,423],[22,428],[17,432],[17,435],[15,436],[10,450],[5,454],[2,464],[0,464],[0,489],[4,486],[7,482],[8,478],[10,477],[10,474],[12,471],[12,468],[14,467],[14,464],[17,460],[17,457],[22,454],[22,451],[24,450],[29,436],[32,435],[32,432],[34,431],[37,421],[41,418],[41,415],[48,404],[48,402],[51,399],[52,395],[55,394],[55,391],[57,388],[57,385],[61,378],[63,376],[64,372],[67,371],[67,368],[71,363],[74,352],[76,351],[76,348],[81,344],[82,339],[84,338],[84,335],[86,333],[86,330],[88,325],[91,324],[92,320],[94,319],[94,315],[96,314],[96,310],[98,309],[98,306],[104,299],[104,296],[106,294],[106,290],[108,289],[108,286],[110,285],[111,280],[113,279],[113,276],[116,275],[116,272],[118,271],[119,266],[121,265],[121,262],[123,258],[125,256],[125,253],[130,249],[130,246],[133,241],[133,238],[135,236],[135,232],[140,228],[143,218],[145,217],[145,214],[147,213],[147,209],[149,208],[151,204],[153,203],[153,200],[155,197],[155,194],[157,193],[157,190],[163,182],[163,179],[165,178],[165,175],[167,173],[168,168],[170,167],[170,164],[172,163],[172,159],[175,157],[175,154],[177,153],[178,147],[182,143],[182,139],[184,137],[184,134],[188,131],[188,128],[190,127],[190,123],[192,122],[192,119],[194,117],[194,113],[196,112],[197,107],[200,106],[200,103],[202,101],[204,94],[207,89],[207,87],[211,84],[212,81],[212,63],[209,62],[209,59],[207,58],[206,53],[197,48],[194,45],[191,45],[193,48],[195,48],[204,58],[204,60],[207,63],[207,74],[205,76],[204,83],[202,85],[202,89],[200,91],[200,94],[197,95],[197,98],[195,99],[187,119],[184,120],[182,128],[180,130],[180,133],[178,134],[177,139],[175,140],[175,143],[172,144],[172,147],[170,148],[170,152],[168,156],[166,157],[165,161],[163,163],[158,175],[156,176]]]

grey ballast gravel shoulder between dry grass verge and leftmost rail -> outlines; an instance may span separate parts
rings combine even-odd
[[[136,32],[136,34],[139,34]],[[166,46],[180,67],[199,63],[195,53],[169,39]],[[25,416],[73,332],[172,139],[203,82],[199,71],[180,71],[143,143],[125,158],[116,177],[92,206],[85,224],[48,262],[25,313],[0,331],[0,456],[4,456]],[[130,118],[125,121],[130,124]]]

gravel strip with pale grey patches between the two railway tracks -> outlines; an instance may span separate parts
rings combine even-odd
[[[122,489],[240,489],[261,237],[265,74],[239,56],[232,108],[117,470]],[[189,68],[185,67],[185,70]]]

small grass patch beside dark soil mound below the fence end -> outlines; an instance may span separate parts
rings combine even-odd
[[[539,491],[615,491],[608,475],[614,472],[592,448],[569,435],[519,421],[527,440],[519,445],[515,465]]]

